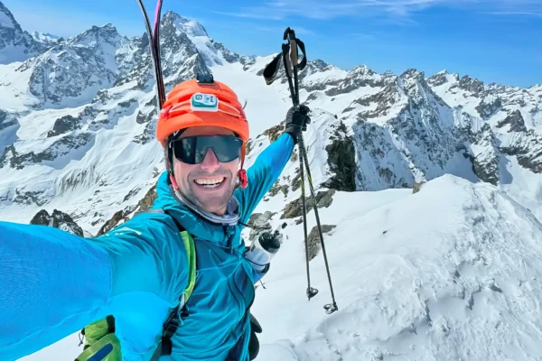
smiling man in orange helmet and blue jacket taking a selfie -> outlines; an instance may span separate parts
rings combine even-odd
[[[107,315],[123,359],[151,359],[189,282],[182,228],[195,245],[195,287],[171,355],[160,359],[248,360],[254,283],[268,264],[246,251],[240,232],[288,162],[307,113],[290,109],[285,133],[245,172],[248,122],[238,97],[220,82],[183,82],[158,119],[171,171],[158,180],[152,212],[94,239],[0,222],[0,359],[31,354]]]

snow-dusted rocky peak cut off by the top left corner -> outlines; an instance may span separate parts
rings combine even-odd
[[[42,42],[23,31],[14,15],[0,2],[0,64],[27,60],[43,49]]]

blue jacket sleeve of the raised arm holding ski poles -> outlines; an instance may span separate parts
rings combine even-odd
[[[264,198],[267,191],[276,182],[286,163],[294,152],[294,139],[292,135],[284,133],[269,144],[257,156],[256,162],[248,168],[248,186],[245,190],[237,190],[241,199],[241,222],[247,223],[248,218]]]

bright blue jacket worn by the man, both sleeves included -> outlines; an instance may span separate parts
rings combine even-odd
[[[238,189],[247,223],[294,149],[282,134],[257,157]],[[173,198],[164,173],[153,208],[163,208],[194,237],[196,284],[189,316],[162,360],[247,360],[248,308],[261,274],[243,256],[241,226],[211,224]],[[0,359],[13,360],[109,314],[126,360],[148,360],[188,282],[186,252],[173,219],[143,213],[104,236],[0,222]],[[77,355],[74,355],[74,358]]]

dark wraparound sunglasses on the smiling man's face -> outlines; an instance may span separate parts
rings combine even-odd
[[[211,148],[219,162],[231,162],[241,156],[243,140],[231,135],[197,135],[170,143],[174,157],[187,164],[200,164]]]

